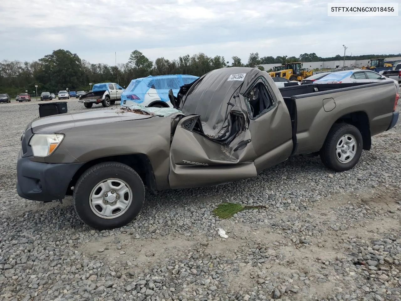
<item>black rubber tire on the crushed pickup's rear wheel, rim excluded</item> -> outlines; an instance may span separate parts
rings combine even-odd
[[[354,157],[352,157],[350,161],[344,161],[343,163],[340,162],[340,159],[338,159],[336,147],[337,142],[340,142],[340,138],[347,134],[355,138],[356,150]],[[344,141],[342,141],[341,143],[343,143]],[[349,169],[352,169],[356,165],[356,163],[358,163],[360,155],[362,154],[362,148],[363,138],[358,128],[348,123],[334,124],[328,132],[323,147],[320,150],[320,159],[322,160],[323,164],[329,169],[332,169],[334,171],[347,171]]]

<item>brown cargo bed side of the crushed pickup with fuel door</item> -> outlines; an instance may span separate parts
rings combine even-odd
[[[337,88],[335,84],[329,85]],[[303,86],[310,86],[309,91],[314,88],[313,85]],[[326,85],[315,86],[322,90],[327,88]],[[296,93],[296,89],[292,90],[292,93]],[[369,137],[370,141],[370,136],[384,132],[389,127],[395,95],[396,89],[392,82],[354,85],[291,97],[287,93],[284,100],[292,112],[295,126],[294,155],[319,151],[332,125],[342,119],[350,119],[351,122],[365,126],[369,133],[365,132],[363,136],[366,139]]]

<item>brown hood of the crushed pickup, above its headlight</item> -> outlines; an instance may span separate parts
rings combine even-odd
[[[75,126],[87,126],[120,122],[128,120],[148,119],[152,115],[123,112],[121,110],[93,110],[89,112],[75,112],[52,115],[32,120],[30,127],[32,133],[51,134],[66,132]]]

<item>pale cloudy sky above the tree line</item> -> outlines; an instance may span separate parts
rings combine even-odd
[[[57,49],[109,65],[136,49],[152,61],[203,52],[230,63],[255,52],[344,55],[344,44],[346,55],[399,53],[400,16],[328,16],[318,0],[3,0],[0,60],[33,61]]]

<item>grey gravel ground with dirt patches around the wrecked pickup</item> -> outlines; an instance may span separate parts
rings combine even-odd
[[[0,105],[0,300],[401,300],[400,123],[351,171],[294,157],[254,179],[147,193],[134,222],[99,232],[70,198],[18,197],[19,138],[37,116],[36,102]],[[269,208],[219,220],[222,201]]]

